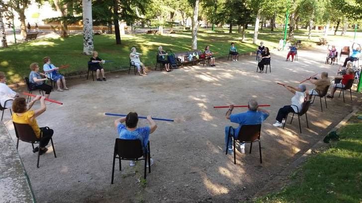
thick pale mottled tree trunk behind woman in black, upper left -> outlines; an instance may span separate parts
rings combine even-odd
[[[92,1],[82,0],[83,4],[83,54],[91,55],[93,44]]]

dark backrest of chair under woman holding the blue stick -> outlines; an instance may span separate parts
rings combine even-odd
[[[140,140],[116,138],[114,151],[121,158],[136,159],[143,156],[143,148]]]

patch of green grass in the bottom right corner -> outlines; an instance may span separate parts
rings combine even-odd
[[[256,202],[361,203],[362,120],[354,116],[338,135],[340,141],[310,157],[291,176],[290,185]]]

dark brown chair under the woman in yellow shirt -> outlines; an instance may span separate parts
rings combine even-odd
[[[14,124],[14,129],[15,129],[15,135],[17,138],[16,141],[16,150],[19,146],[19,140],[26,142],[26,143],[31,143],[31,146],[33,147],[34,150],[34,144],[39,144],[38,148],[38,161],[36,164],[36,167],[39,168],[39,156],[40,156],[40,140],[42,138],[42,131],[40,131],[40,138],[38,139],[34,133],[34,130],[31,128],[30,125],[28,124],[20,124],[20,123],[15,123],[12,122]],[[48,127],[45,127],[48,128]],[[53,148],[53,152],[54,152],[54,157],[56,158],[57,155],[55,154],[55,149],[54,149],[54,144],[53,144],[53,138],[50,138],[50,141],[52,143],[52,148]]]

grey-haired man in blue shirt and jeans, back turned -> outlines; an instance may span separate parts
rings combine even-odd
[[[226,119],[229,119],[232,123],[238,123],[239,127],[235,129],[235,134],[232,133],[234,131],[231,131],[230,134],[234,136],[234,139],[238,138],[239,131],[242,125],[256,125],[261,124],[265,119],[268,118],[269,112],[267,110],[259,108],[258,102],[254,99],[249,100],[248,102],[248,108],[249,110],[244,113],[238,113],[238,114],[231,114],[231,112],[234,109],[234,105],[230,105],[229,110],[226,112]],[[232,148],[232,139],[229,139],[229,143],[227,143],[228,136],[229,136],[229,129],[230,126],[225,127],[225,145],[226,150],[228,151],[228,154],[233,154],[233,148]],[[234,128],[233,128],[234,129]],[[241,145],[240,148],[243,152],[244,145]]]

